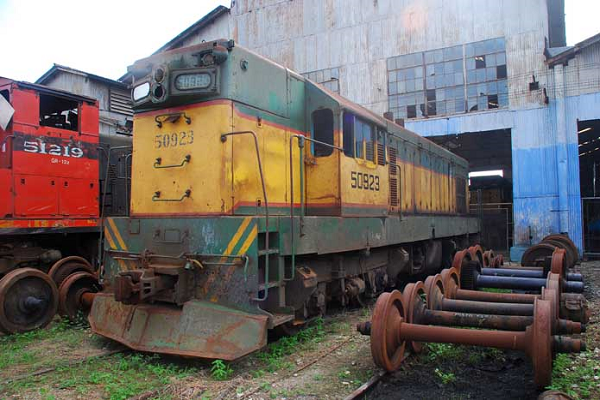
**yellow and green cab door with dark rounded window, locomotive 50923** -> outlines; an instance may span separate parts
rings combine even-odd
[[[311,139],[341,147],[337,103],[306,82],[306,121]],[[340,151],[306,141],[304,151],[306,215],[340,215]]]

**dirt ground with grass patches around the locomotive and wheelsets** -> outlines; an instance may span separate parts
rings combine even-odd
[[[576,399],[600,398],[600,262],[581,265],[592,310],[588,352],[555,363],[553,387]],[[227,366],[218,380],[211,365],[125,352],[85,364],[82,356],[114,349],[85,329],[55,329],[34,337],[0,338],[1,399],[344,399],[379,369],[369,338],[355,330],[370,308],[340,311],[307,335],[274,341],[263,353]],[[12,358],[11,358],[12,357]],[[61,366],[62,365],[62,366]],[[26,375],[44,369],[40,375]],[[531,363],[519,352],[427,345],[384,376],[368,399],[536,399]],[[10,382],[20,376],[17,382]]]

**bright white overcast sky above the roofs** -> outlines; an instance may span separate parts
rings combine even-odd
[[[117,79],[219,4],[0,0],[0,76],[33,82],[57,63]],[[565,14],[567,44],[600,32],[600,0],[566,0]]]

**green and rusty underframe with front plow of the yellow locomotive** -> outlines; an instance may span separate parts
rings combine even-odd
[[[479,231],[468,216],[276,216],[267,249],[266,226],[263,216],[108,218],[92,330],[137,350],[233,360],[263,347],[268,329],[434,272]]]

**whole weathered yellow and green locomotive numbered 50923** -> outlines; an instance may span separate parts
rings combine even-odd
[[[233,360],[477,235],[465,160],[233,41],[130,71],[131,215],[105,224],[95,333]]]

